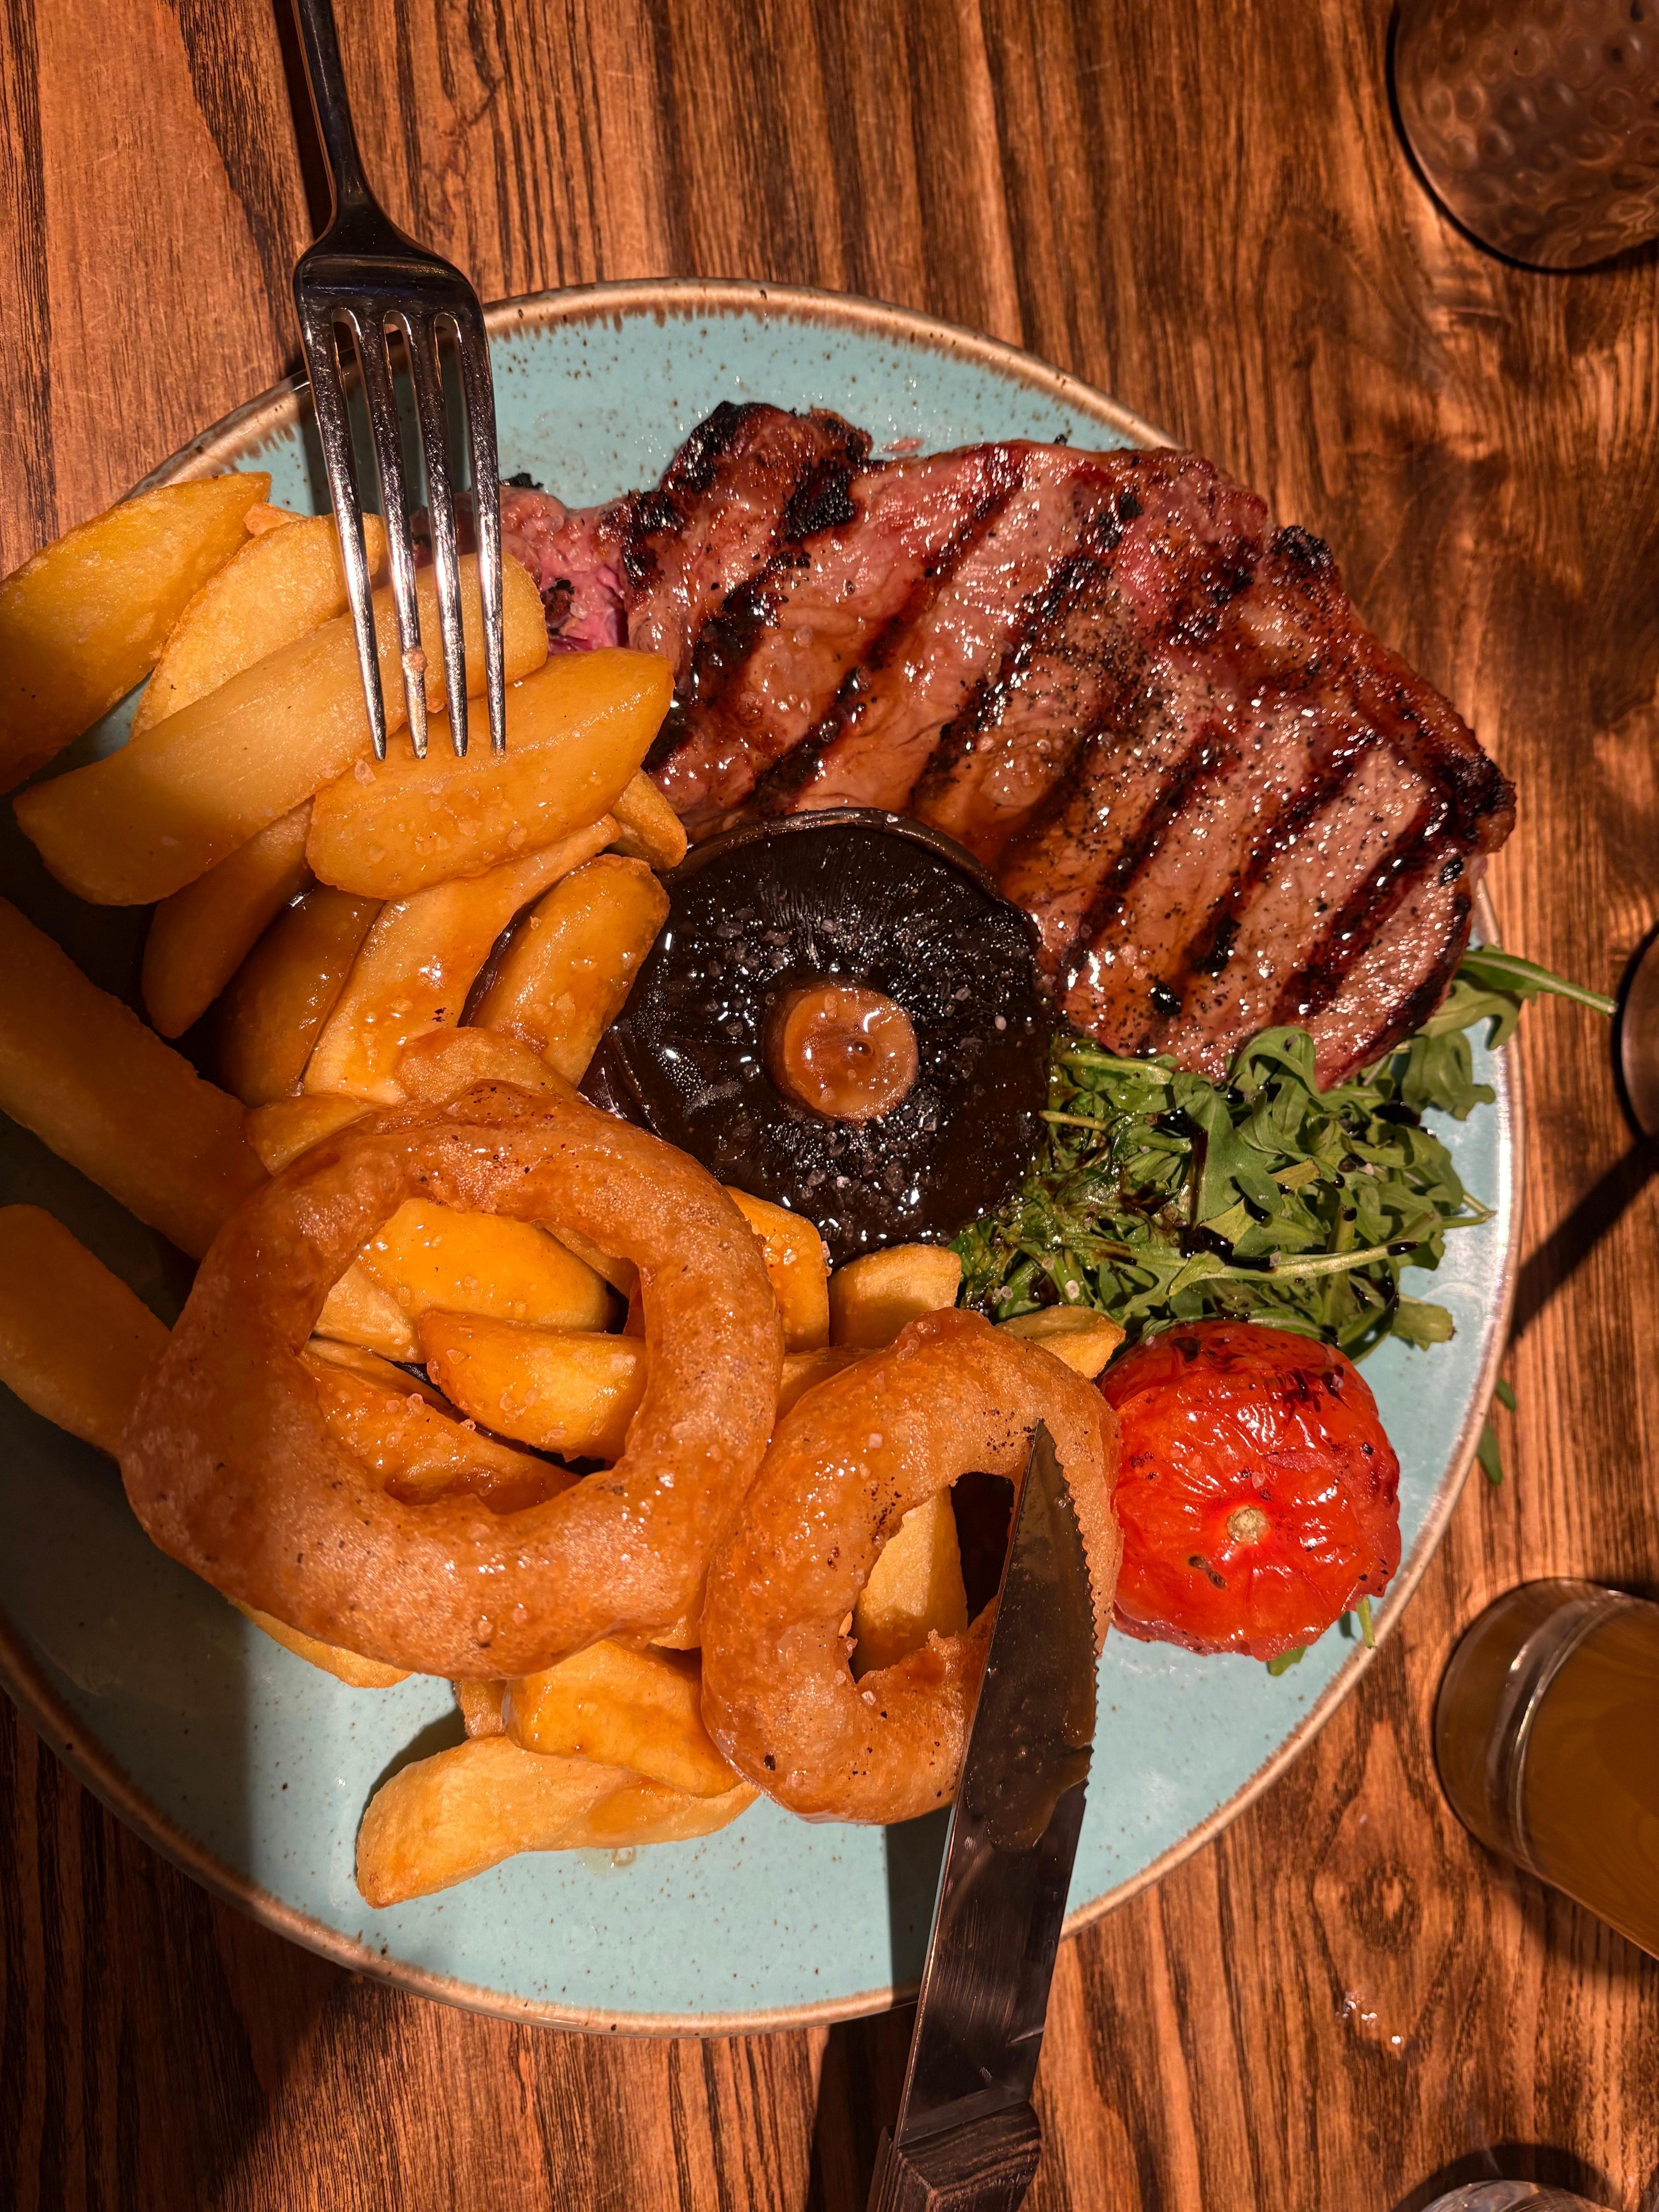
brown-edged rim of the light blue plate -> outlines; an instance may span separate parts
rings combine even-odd
[[[1144,416],[1137,416],[1133,409],[1106,398],[1102,392],[1079,383],[1064,369],[1040,361],[1035,354],[1024,354],[998,338],[987,338],[973,330],[960,330],[953,323],[940,323],[933,316],[918,314],[909,307],[894,307],[883,301],[856,299],[843,292],[816,292],[805,285],[768,285],[737,279],[637,279],[628,283],[584,285],[568,292],[535,292],[524,299],[498,301],[484,310],[484,325],[491,336],[511,336],[520,330],[544,330],[562,323],[622,323],[639,314],[650,314],[659,323],[670,316],[690,321],[708,314],[743,314],[763,316],[768,321],[799,321],[816,327],[867,332],[876,338],[918,345],[951,358],[969,361],[995,376],[1004,376],[1009,383],[1037,389],[1057,405],[1073,407],[1077,414],[1093,416],[1095,420],[1108,425],[1130,445],[1175,445],[1166,431],[1155,429]],[[223,469],[232,456],[246,462],[259,445],[292,431],[303,411],[305,378],[285,376],[259,398],[248,400],[243,407],[221,416],[210,429],[179,447],[133,489],[148,491],[153,484],[173,484],[197,476],[212,476]],[[1493,940],[1498,936],[1491,900],[1484,887],[1475,902],[1475,922],[1482,938]],[[1128,1898],[1139,1896],[1141,1889],[1150,1889],[1152,1882],[1159,1882],[1172,1867],[1179,1867],[1183,1860],[1192,1858],[1194,1851],[1201,1851],[1214,1836],[1221,1834],[1223,1827],[1228,1827],[1230,1820],[1254,1803],[1254,1798],[1259,1798],[1261,1792],[1267,1790],[1267,1785],[1274,1783],[1303,1750],[1307,1750],[1325,1721],[1329,1721],[1343,1699],[1349,1697],[1360,1677],[1367,1672],[1376,1659],[1376,1650],[1380,1650],[1394,1632],[1407,1601],[1429,1566],[1429,1559],[1444,1537],[1451,1513],[1469,1478],[1469,1467],[1473,1464],[1480,1429],[1486,1420],[1486,1407],[1491,1405],[1493,1387],[1498,1383],[1498,1371],[1509,1343],[1509,1323],[1515,1303],[1515,1272],[1522,1234],[1520,1161],[1524,1157],[1524,1104],[1520,1062],[1511,1046],[1504,1046],[1495,1055],[1495,1077],[1498,1104],[1493,1110],[1498,1115],[1500,1164],[1495,1212],[1506,1225],[1506,1243],[1498,1272],[1498,1310],[1489,1314],[1486,1356],[1480,1367],[1478,1387],[1464,1407],[1462,1429],[1458,1431],[1458,1440],[1449,1458],[1449,1467],[1453,1471],[1440,1484],[1409,1555],[1400,1562],[1400,1571],[1389,1590],[1387,1613],[1378,1624],[1378,1644],[1376,1648],[1360,1648],[1352,1655],[1347,1666],[1343,1666],[1343,1670],[1325,1686],[1274,1754],[1265,1759],[1223,1805],[1217,1805],[1208,1818],[1188,1829],[1179,1843],[1170,1845],[1168,1851],[1141,1867],[1139,1874],[1133,1874],[1115,1889],[1108,1889],[1099,1898],[1091,1898],[1086,1905],[1066,1913],[1066,1936],[1075,1936],[1077,1929],[1099,1920],[1115,1905],[1124,1905]],[[307,1951],[316,1951],[354,1973],[369,1973],[380,1982],[407,1989],[420,1997],[458,2004],[467,2011],[489,2013],[500,2020],[522,2020],[580,2033],[752,2035],[772,2028],[827,2026],[838,2020],[860,2020],[869,2013],[887,2011],[889,2006],[914,1995],[914,1986],[909,1984],[876,1984],[823,2004],[787,2004],[754,2013],[721,2011],[710,2015],[617,2015],[584,2006],[538,2004],[526,1997],[511,1997],[498,1989],[484,1989],[476,1982],[460,1982],[451,1975],[429,1973],[427,1969],[411,1966],[405,1960],[383,1955],[380,1951],[354,1942],[347,1936],[338,1936],[321,1920],[312,1920],[310,1913],[301,1913],[292,1905],[285,1905],[283,1898],[274,1896],[263,1885],[252,1882],[248,1876],[239,1874],[217,1854],[197,1843],[195,1836],[181,1829],[177,1820],[164,1814],[159,1805],[135,1787],[124,1767],[104,1750],[102,1743],[86,1734],[71,1708],[24,1648],[11,1621],[2,1615],[0,1686],[4,1686],[11,1701],[42,1736],[42,1741],[58,1754],[58,1759],[64,1761],[71,1774],[93,1792],[95,1798],[122,1823],[126,1823],[126,1827],[150,1843],[166,1860],[192,1880],[201,1882],[204,1889],[223,1898],[228,1905],[237,1905],[241,1911],[250,1913],[274,1933],[285,1936],[290,1942],[303,1944]]]

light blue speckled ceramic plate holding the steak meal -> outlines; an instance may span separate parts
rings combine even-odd
[[[1161,442],[1060,372],[967,332],[860,301],[759,285],[615,285],[491,314],[502,471],[571,500],[650,480],[719,400],[836,407],[876,445],[918,438]],[[159,480],[270,469],[272,498],[316,507],[307,409],[279,387],[175,456]],[[93,739],[117,741],[124,721]],[[82,750],[82,748],[77,748]],[[131,989],[137,920],[0,852],[7,889],[100,982]],[[1475,1053],[1482,1060],[1482,1053]],[[1389,1343],[1367,1367],[1400,1464],[1405,1566],[1389,1630],[1444,1528],[1491,1396],[1517,1232],[1517,1099],[1447,1128],[1498,1219],[1453,1239],[1433,1296],[1458,1336]],[[33,1139],[0,1126],[0,1194],[58,1212],[166,1318],[175,1254]],[[1427,1290],[1422,1283],[1418,1290]],[[290,1659],[139,1533],[113,1469],[0,1391],[0,1666],[82,1781],[199,1880],[319,1951],[487,2011],[584,2028],[721,2031],[834,2020],[914,1982],[942,1820],[807,1827],[757,1805],[721,1836],[540,1856],[372,1913],[352,1880],[358,1816],[411,1752],[456,1741],[449,1688],[354,1692]],[[1272,1679],[1245,1659],[1108,1641],[1071,1924],[1197,1849],[1354,1688],[1367,1652],[1338,1632]]]

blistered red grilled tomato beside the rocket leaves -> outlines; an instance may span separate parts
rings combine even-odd
[[[1121,1425],[1115,1624],[1279,1659],[1400,1564],[1400,1462],[1329,1345],[1250,1321],[1166,1329],[1099,1387]]]

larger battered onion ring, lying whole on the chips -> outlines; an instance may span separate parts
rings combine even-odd
[[[650,1380],[608,1473],[518,1513],[400,1504],[330,1431],[299,1347],[409,1197],[568,1223],[639,1267]],[[701,1599],[772,1431],[783,1332],[719,1183],[582,1099],[480,1084],[354,1121],[208,1252],[122,1442],[150,1537],[228,1597],[422,1674],[533,1674]]]

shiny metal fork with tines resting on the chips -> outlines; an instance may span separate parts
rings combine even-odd
[[[409,741],[416,759],[427,757],[427,686],[416,615],[416,564],[409,540],[409,500],[403,482],[403,427],[392,392],[387,325],[403,330],[420,427],[420,458],[427,476],[431,560],[438,580],[438,626],[442,633],[449,734],[456,752],[467,752],[467,657],[460,628],[460,568],[456,560],[456,502],[445,458],[445,400],[438,361],[438,327],[451,323],[460,358],[460,387],[471,449],[473,513],[478,535],[478,586],[484,613],[484,688],[489,692],[489,741],[507,752],[507,679],[502,668],[502,518],[500,467],[495,458],[495,392],[489,378],[489,343],[478,294],[449,261],[407,239],[380,208],[363,177],[352,108],[345,97],[341,49],[330,0],[294,0],[305,75],[316,108],[316,131],[327,157],[334,212],[323,237],[294,265],[294,307],[312,380],[316,429],[323,440],[334,522],[345,560],[345,588],[356,624],[363,666],[363,697],[369,708],[374,754],[385,759],[385,699],[380,655],[374,639],[369,564],[363,551],[363,504],[352,465],[352,429],[345,405],[338,334],[349,332],[369,403],[374,462],[380,476],[380,509],[392,555],[392,597],[398,608],[403,688],[409,701]]]

